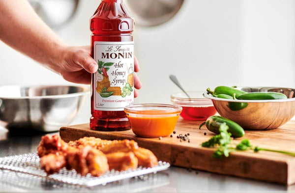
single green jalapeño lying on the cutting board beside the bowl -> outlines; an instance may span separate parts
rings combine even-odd
[[[231,133],[234,138],[240,138],[245,135],[244,129],[236,122],[221,116],[210,116],[199,128],[201,129],[201,127],[206,124],[206,127],[210,132],[219,134],[219,127],[222,123],[226,123],[229,127],[228,132]]]

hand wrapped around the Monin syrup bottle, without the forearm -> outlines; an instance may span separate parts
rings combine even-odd
[[[90,55],[90,46],[65,47],[61,51],[61,65],[59,74],[66,81],[72,83],[91,83],[91,73],[97,72],[98,65]],[[134,71],[139,72],[139,64],[134,57]],[[140,82],[136,73],[134,73],[134,87],[140,89]],[[138,96],[138,91],[134,90],[134,97]]]

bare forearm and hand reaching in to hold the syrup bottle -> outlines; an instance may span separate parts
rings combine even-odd
[[[98,69],[90,55],[90,46],[65,45],[37,16],[27,0],[0,0],[0,40],[69,82],[89,84],[90,73],[96,73]],[[136,59],[134,65],[138,72]],[[141,87],[137,76],[135,87]]]

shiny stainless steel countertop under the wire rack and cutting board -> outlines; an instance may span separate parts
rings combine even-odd
[[[8,135],[0,129],[0,157],[36,152],[40,137],[44,134]],[[28,180],[19,173],[7,175],[0,170],[0,192],[102,192],[102,193],[196,193],[196,192],[295,192],[295,186],[283,186],[203,171],[188,171],[171,167],[143,179],[132,178],[105,186],[84,188],[49,183],[46,180]]]

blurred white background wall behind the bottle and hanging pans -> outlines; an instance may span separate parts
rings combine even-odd
[[[144,1],[144,0],[141,0]],[[70,45],[88,45],[89,18],[100,0],[80,0],[73,18],[55,28]],[[135,51],[143,88],[136,103],[170,103],[179,91],[217,85],[295,87],[294,0],[184,0],[175,17],[136,26]],[[68,84],[0,42],[0,84]],[[90,98],[73,123],[90,117]]]

